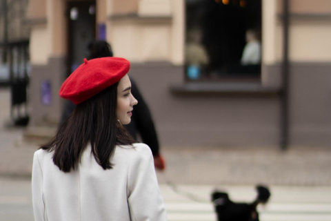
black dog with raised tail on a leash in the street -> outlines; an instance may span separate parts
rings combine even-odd
[[[265,204],[270,198],[270,191],[265,186],[257,186],[257,199],[252,203],[232,202],[228,193],[214,191],[212,202],[214,202],[218,221],[259,221],[257,205]]]

